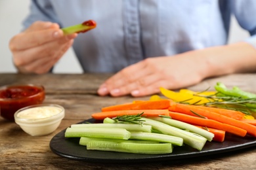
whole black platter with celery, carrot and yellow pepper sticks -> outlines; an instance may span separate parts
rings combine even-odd
[[[50,148],[73,160],[131,163],[181,160],[256,146],[256,94],[236,87],[228,90],[221,83],[215,89],[217,93],[200,96],[162,88],[167,99],[155,95],[150,101],[104,107],[92,119],[60,131]]]

